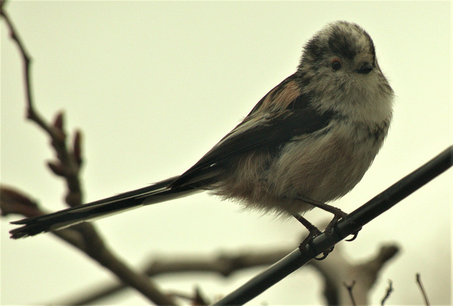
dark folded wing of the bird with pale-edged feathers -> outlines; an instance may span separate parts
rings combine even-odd
[[[268,95],[272,92],[271,90]],[[273,151],[294,136],[319,131],[326,127],[335,115],[333,112],[321,113],[314,109],[309,96],[304,94],[287,102],[285,110],[274,113],[260,112],[263,100],[264,98],[258,102],[241,124],[219,141],[193,167],[178,177],[170,187],[181,187],[212,177],[231,158],[244,153]]]

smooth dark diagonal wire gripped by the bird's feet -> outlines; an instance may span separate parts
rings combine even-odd
[[[373,220],[380,214],[389,210],[406,196],[415,192],[415,190],[423,187],[437,175],[445,172],[452,166],[453,146],[449,146],[445,151],[432,160],[422,165],[417,170],[403,177],[401,180],[391,185],[373,199],[367,201],[355,211],[350,213],[344,219],[338,221],[332,233],[321,235],[306,245],[303,249],[294,249],[286,257],[277,261],[265,271],[251,278],[250,281],[244,283],[229,295],[226,295],[221,300],[214,303],[215,306],[220,305],[243,305],[249,300],[255,298],[266,289],[273,286],[282,278],[285,278],[290,273],[296,271],[301,266],[304,266],[311,259],[316,257],[328,249],[331,249],[336,243],[343,240],[348,235],[360,230],[363,225]]]

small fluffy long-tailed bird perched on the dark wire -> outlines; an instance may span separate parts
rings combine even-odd
[[[300,214],[315,206],[341,218],[344,213],[326,202],[350,192],[365,175],[389,130],[393,99],[367,32],[355,23],[329,23],[306,42],[297,71],[182,175],[14,221],[22,226],[11,237],[202,191],[302,223]]]

